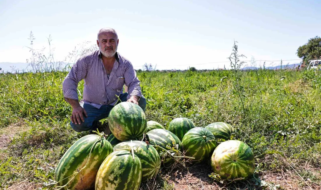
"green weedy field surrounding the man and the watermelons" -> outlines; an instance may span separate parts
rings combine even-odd
[[[64,152],[88,132],[69,125],[66,72],[0,74],[1,189],[46,189]],[[187,117],[196,126],[227,122],[255,154],[247,181],[208,175],[208,163],[163,168],[142,189],[320,189],[321,72],[233,70],[138,72],[148,120],[168,126]],[[79,84],[82,95],[83,82]],[[106,122],[104,120],[103,122]],[[267,183],[267,184],[266,184]],[[280,187],[279,187],[280,185]]]

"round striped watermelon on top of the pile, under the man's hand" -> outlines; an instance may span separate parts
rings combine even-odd
[[[121,141],[142,138],[146,122],[142,108],[131,102],[117,104],[108,115],[110,131]]]

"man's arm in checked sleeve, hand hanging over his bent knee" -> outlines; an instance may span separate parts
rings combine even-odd
[[[71,68],[63,82],[64,98],[73,108],[73,113],[70,117],[71,122],[80,124],[84,122],[83,115],[87,117],[86,110],[83,109],[78,102],[77,86],[78,83],[87,75],[87,64],[85,57],[78,61]]]

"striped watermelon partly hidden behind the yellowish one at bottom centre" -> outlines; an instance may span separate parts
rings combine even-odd
[[[121,142],[114,147],[116,149],[124,149],[133,147],[134,154],[140,159],[143,167],[143,177],[142,181],[151,179],[156,176],[158,170],[160,169],[160,156],[157,150],[151,146],[147,145],[146,142],[140,140],[128,140],[126,142]],[[137,148],[138,147],[138,148]]]

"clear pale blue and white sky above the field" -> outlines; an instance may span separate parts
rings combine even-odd
[[[320,10],[320,0],[0,0],[0,62],[30,58],[30,31],[36,49],[48,49],[50,34],[63,60],[103,27],[116,29],[118,52],[136,69],[222,68],[229,63],[209,62],[228,61],[234,39],[247,60],[298,59],[298,47],[321,35]]]

